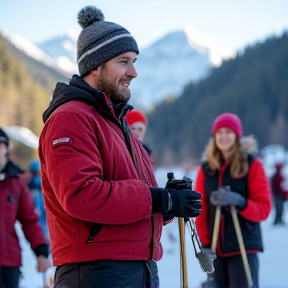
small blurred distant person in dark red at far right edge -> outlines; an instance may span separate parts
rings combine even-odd
[[[288,191],[284,189],[285,178],[281,173],[283,166],[283,162],[277,163],[275,165],[275,174],[271,177],[271,190],[274,197],[274,205],[276,210],[274,225],[284,224],[282,219],[284,202],[288,198]]]

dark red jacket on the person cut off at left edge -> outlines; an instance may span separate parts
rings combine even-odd
[[[18,174],[17,166],[10,161],[0,174],[0,266],[21,266],[21,249],[14,227],[17,220],[36,255],[48,256],[32,196]]]

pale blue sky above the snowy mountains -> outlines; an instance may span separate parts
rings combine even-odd
[[[0,0],[0,29],[36,43],[79,34],[77,13],[86,5],[128,29],[140,47],[186,24],[235,49],[288,29],[288,0]]]

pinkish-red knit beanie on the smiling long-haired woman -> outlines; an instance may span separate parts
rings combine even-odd
[[[219,128],[229,128],[235,132],[237,138],[242,137],[242,124],[239,117],[232,113],[224,113],[218,116],[212,126],[212,135],[216,133]]]

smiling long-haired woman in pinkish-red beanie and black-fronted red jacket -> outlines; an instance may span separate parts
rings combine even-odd
[[[269,183],[262,163],[252,155],[257,151],[253,137],[242,137],[237,115],[224,113],[212,126],[209,142],[199,168],[195,190],[202,193],[202,211],[196,219],[199,237],[207,252],[212,251],[216,207],[221,207],[214,260],[215,287],[248,287],[243,261],[232,221],[230,206],[238,211],[244,246],[252,274],[253,287],[259,287],[258,252],[263,251],[260,222],[271,210]]]

